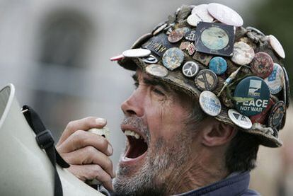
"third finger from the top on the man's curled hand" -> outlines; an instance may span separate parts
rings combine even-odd
[[[71,165],[99,165],[112,178],[115,177],[115,173],[113,171],[113,163],[111,159],[95,149],[93,146],[86,146],[83,149],[78,149],[67,154],[62,154],[62,157],[65,161],[67,161],[67,163]]]

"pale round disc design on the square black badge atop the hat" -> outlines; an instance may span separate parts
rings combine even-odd
[[[210,27],[202,32],[201,40],[210,50],[222,50],[229,44],[229,35],[219,27]]]

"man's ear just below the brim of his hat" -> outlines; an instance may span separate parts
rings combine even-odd
[[[202,144],[205,146],[221,146],[234,138],[236,128],[226,125],[214,118],[209,118],[207,126],[202,129]]]

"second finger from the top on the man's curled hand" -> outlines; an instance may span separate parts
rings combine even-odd
[[[107,139],[98,134],[82,130],[78,130],[74,132],[74,134],[71,134],[69,138],[57,146],[57,150],[59,153],[64,154],[75,151],[76,149],[82,149],[85,146],[93,146],[98,149],[98,151],[101,151],[108,156],[113,154],[113,148]]]

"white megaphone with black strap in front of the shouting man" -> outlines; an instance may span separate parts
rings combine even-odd
[[[54,167],[25,120],[13,84],[0,91],[0,195],[54,195]],[[102,195],[57,165],[63,195]]]

